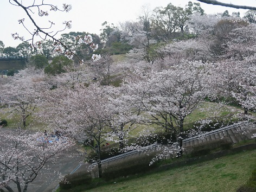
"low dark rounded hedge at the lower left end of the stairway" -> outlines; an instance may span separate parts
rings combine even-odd
[[[87,171],[75,172],[71,175],[66,175],[60,182],[61,189],[70,189],[77,185],[91,184],[92,177]]]

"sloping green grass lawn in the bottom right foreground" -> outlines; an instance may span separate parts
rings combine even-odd
[[[151,174],[120,178],[86,191],[236,191],[256,168],[256,150]],[[85,191],[83,186],[67,191]],[[66,191],[66,190],[59,190]]]

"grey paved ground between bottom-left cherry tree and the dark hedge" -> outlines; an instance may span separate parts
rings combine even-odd
[[[0,131],[7,131],[10,129],[1,128]],[[13,130],[15,131],[15,130]],[[0,149],[4,146],[0,143]],[[56,163],[49,162],[47,166],[50,169],[42,169],[40,174],[32,183],[28,185],[28,192],[49,192],[52,191],[61,181],[59,175],[62,176],[71,173],[82,161],[82,158],[72,155],[74,151],[66,151]],[[16,187],[17,188],[17,187]],[[15,189],[15,188],[14,188]]]

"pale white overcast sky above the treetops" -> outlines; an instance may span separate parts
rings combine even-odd
[[[219,0],[224,3],[233,3],[240,5],[247,5],[256,7],[256,0]],[[31,2],[31,0],[23,0],[23,2]],[[40,2],[40,1],[39,1]],[[53,3],[54,2],[54,3]],[[48,20],[53,21],[56,27],[60,29],[63,21],[72,21],[72,28],[65,30],[63,33],[69,33],[70,31],[85,31],[88,33],[100,34],[101,24],[104,21],[114,23],[118,25],[119,22],[124,21],[135,21],[136,18],[142,12],[143,5],[149,5],[153,10],[156,7],[166,7],[168,3],[172,3],[175,6],[185,7],[189,0],[58,0],[50,1],[44,0],[44,3],[58,2],[61,7],[61,2],[72,4],[72,10],[66,12],[49,12],[48,17],[43,17],[43,21],[39,23],[48,24]],[[191,0],[191,2],[197,2]],[[217,5],[208,5],[200,3],[206,14],[214,14],[217,12],[223,12],[225,10],[232,12],[240,11],[244,14],[247,10],[243,9],[232,9],[221,7]],[[27,32],[24,30],[21,24],[18,24],[18,20],[25,18],[25,23],[29,23],[29,18],[25,15],[24,11],[20,7],[11,5],[8,0],[1,0],[0,3],[0,17],[1,17],[1,28],[0,28],[0,40],[3,41],[5,47],[12,46],[16,47],[21,41],[14,40],[11,37],[11,33],[18,33],[21,36],[29,38],[26,35]],[[42,25],[41,27],[46,27]],[[29,29],[34,29],[33,25],[28,25]]]

